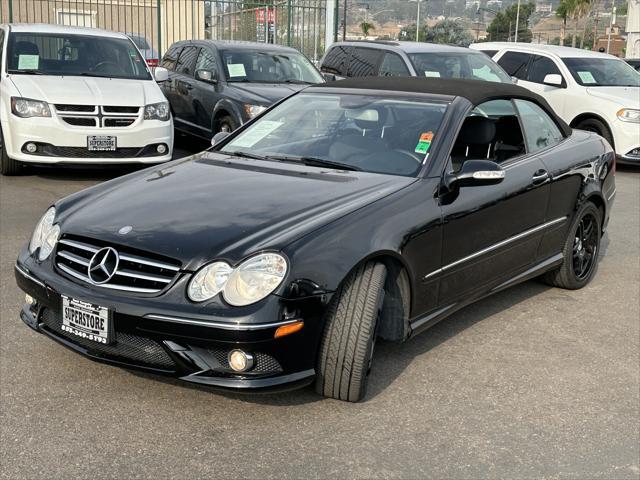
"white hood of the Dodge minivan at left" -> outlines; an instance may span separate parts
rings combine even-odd
[[[142,106],[164,100],[153,80],[12,75],[11,81],[22,97],[54,104]]]

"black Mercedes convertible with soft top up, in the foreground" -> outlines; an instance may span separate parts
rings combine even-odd
[[[358,401],[376,338],[586,285],[615,195],[611,147],[509,84],[318,85],[215,140],[47,210],[22,320],[115,365]]]

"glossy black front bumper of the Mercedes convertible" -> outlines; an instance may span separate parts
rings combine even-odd
[[[301,317],[242,325],[212,319],[206,325],[202,320],[171,315],[162,318],[157,313],[154,318],[130,315],[127,304],[118,297],[105,303],[87,291],[82,300],[106,305],[113,311],[114,342],[103,345],[62,330],[60,295],[78,297],[77,289],[67,288],[66,279],[60,277],[54,286],[20,261],[15,276],[18,286],[35,299],[20,311],[24,323],[93,360],[245,392],[289,390],[308,385],[315,377],[319,318],[305,317],[301,331],[276,339],[274,333],[279,326]],[[229,368],[227,354],[233,349],[254,356],[255,365],[250,371],[236,373]]]

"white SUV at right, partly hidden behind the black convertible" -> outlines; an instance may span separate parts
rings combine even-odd
[[[640,165],[640,73],[605,53],[530,43],[476,43],[480,50],[542,95],[569,125],[596,132],[618,161]]]

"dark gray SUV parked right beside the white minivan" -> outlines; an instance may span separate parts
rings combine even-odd
[[[267,107],[324,79],[293,48],[239,41],[174,43],[162,58],[161,84],[177,130],[211,139],[230,132]]]

